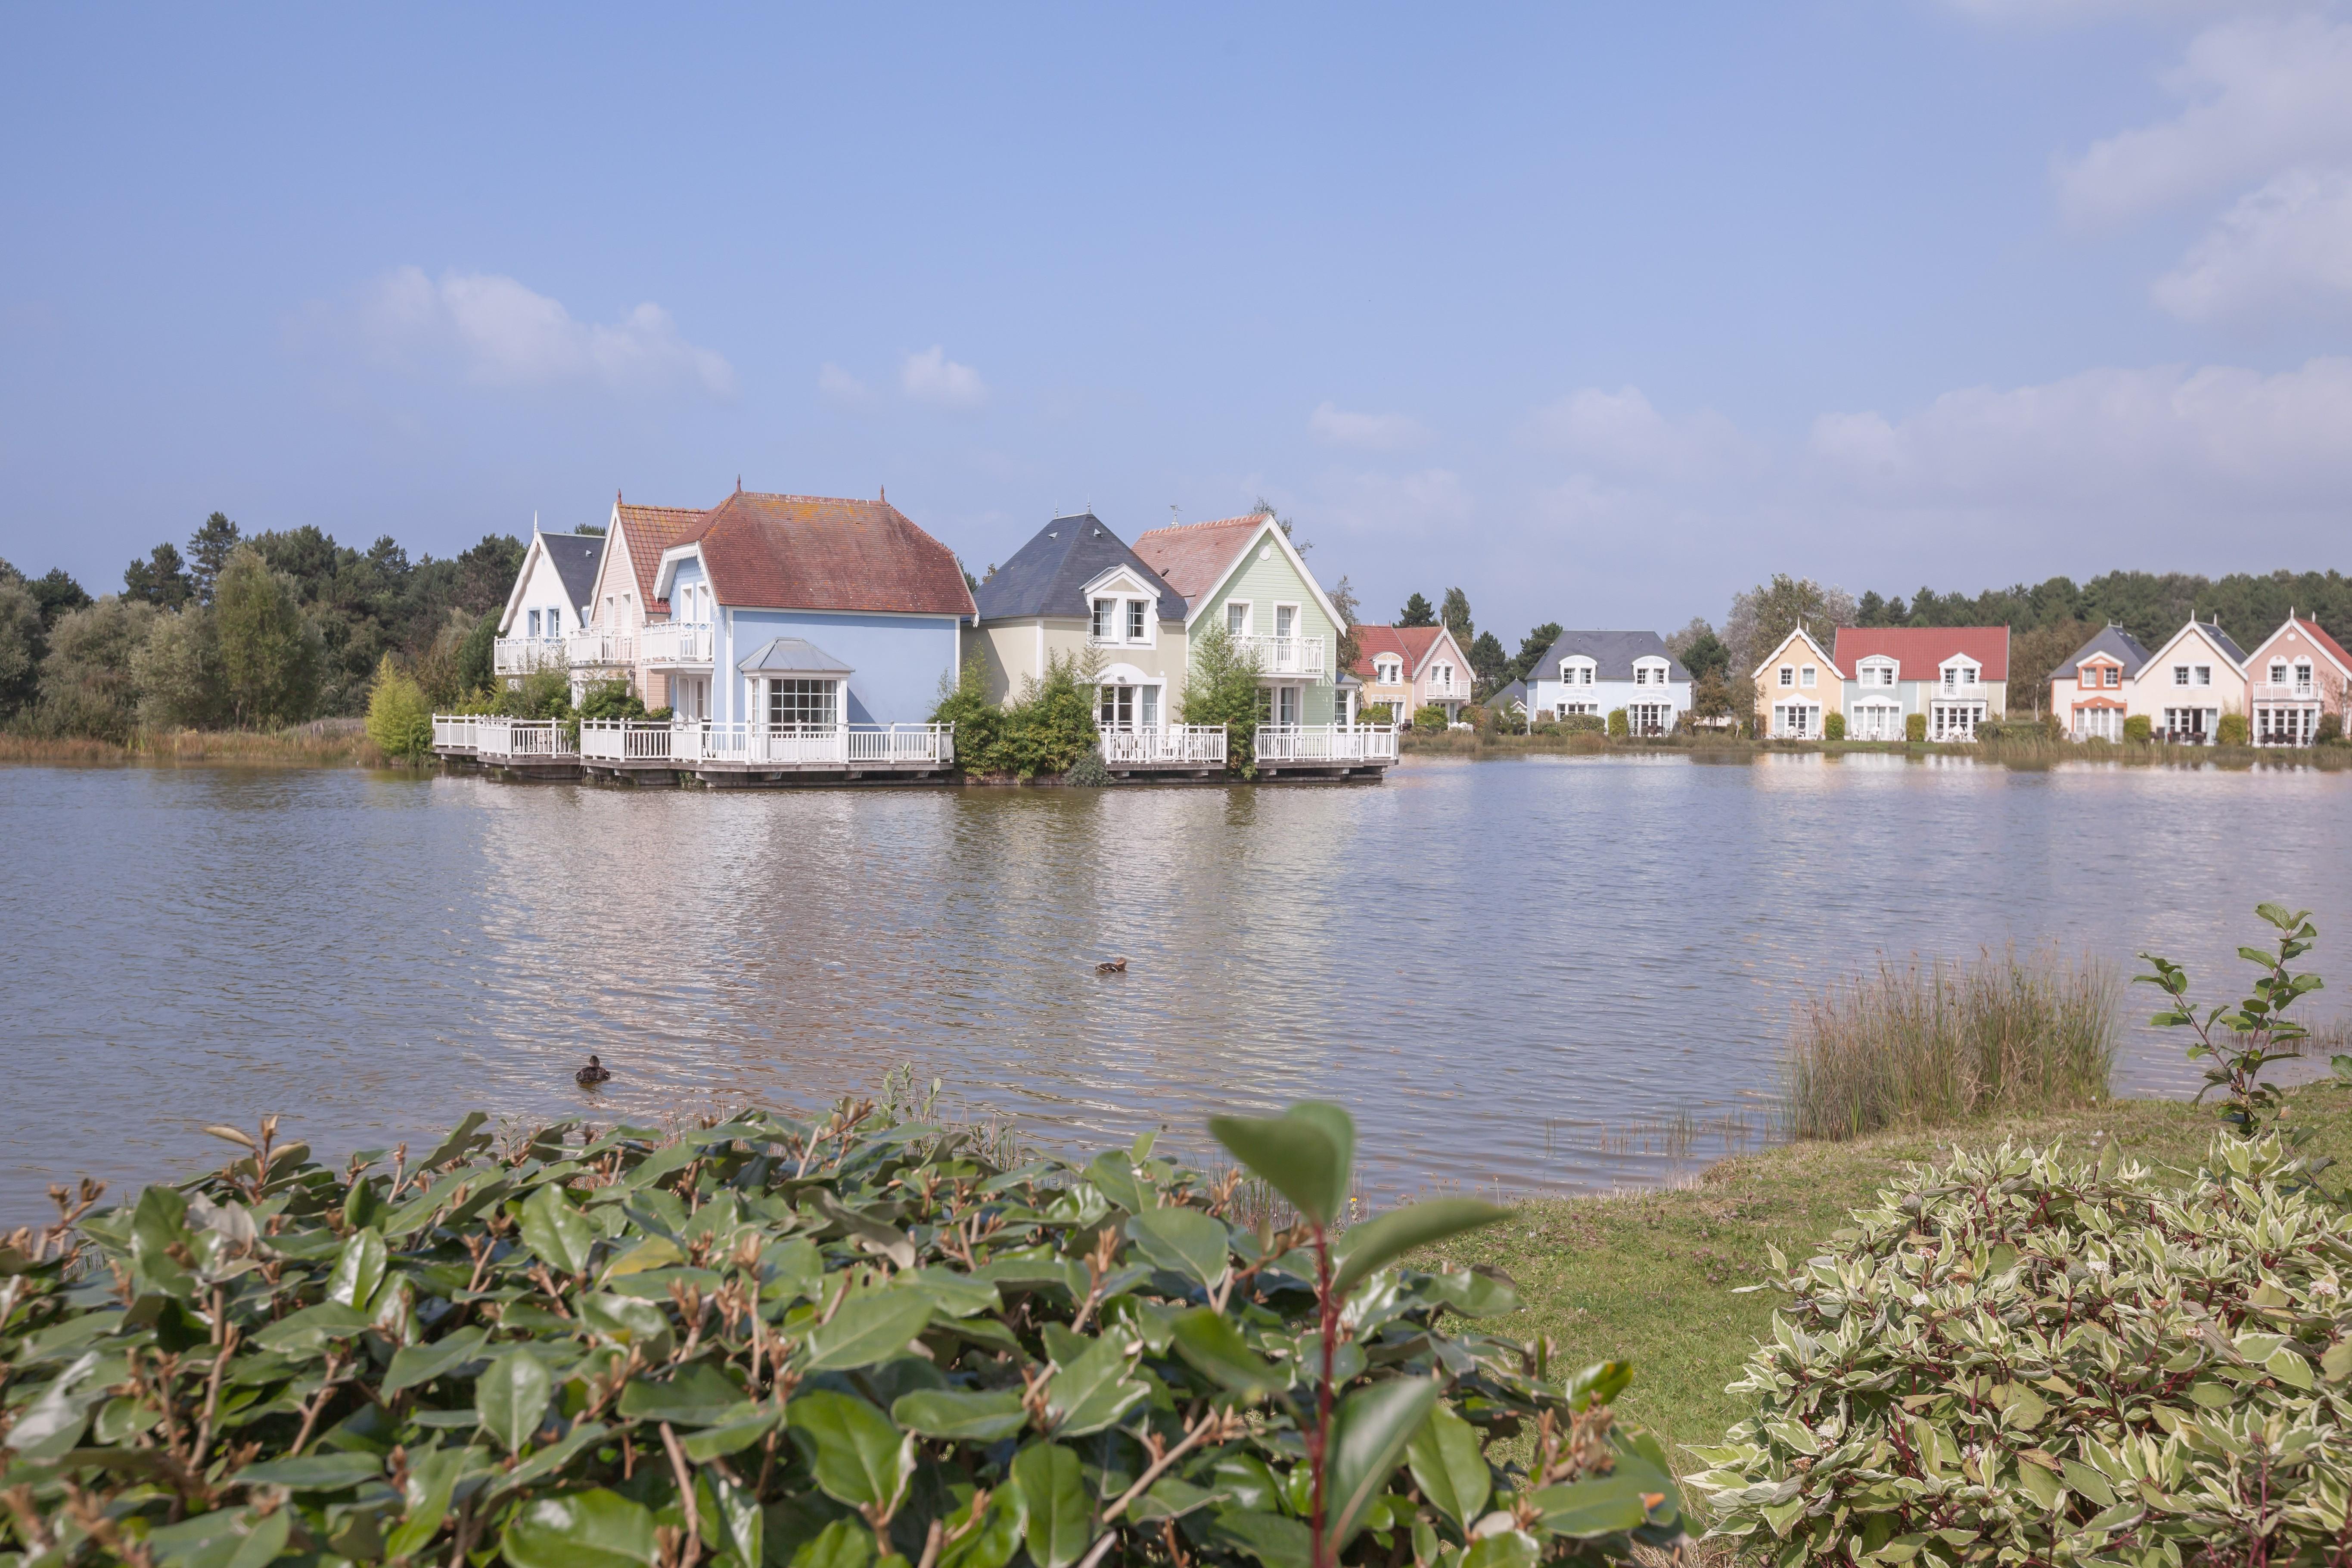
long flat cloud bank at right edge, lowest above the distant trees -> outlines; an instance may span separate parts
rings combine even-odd
[[[2093,369],[1964,388],[1900,421],[1823,414],[1813,470],[1889,505],[1997,505],[2131,524],[2145,512],[2352,501],[2352,360],[2263,374]]]

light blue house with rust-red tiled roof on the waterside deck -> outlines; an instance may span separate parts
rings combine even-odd
[[[673,614],[640,668],[762,733],[924,724],[976,614],[955,552],[889,501],[757,491],[661,552],[649,602]]]

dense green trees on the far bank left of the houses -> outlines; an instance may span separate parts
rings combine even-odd
[[[132,729],[275,729],[358,715],[386,656],[447,703],[492,684],[496,611],[524,545],[412,559],[313,524],[245,534],[212,512],[92,595],[0,562],[0,724],[122,741]]]

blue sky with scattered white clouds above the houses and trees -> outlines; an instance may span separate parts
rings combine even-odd
[[[2331,7],[0,12],[0,557],[1275,501],[1369,618],[2347,567]]]

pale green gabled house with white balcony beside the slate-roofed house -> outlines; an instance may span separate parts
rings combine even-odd
[[[1209,625],[1258,661],[1261,715],[1277,729],[1348,724],[1338,712],[1331,597],[1265,512],[1152,529],[1136,557],[1185,602],[1188,658]]]

